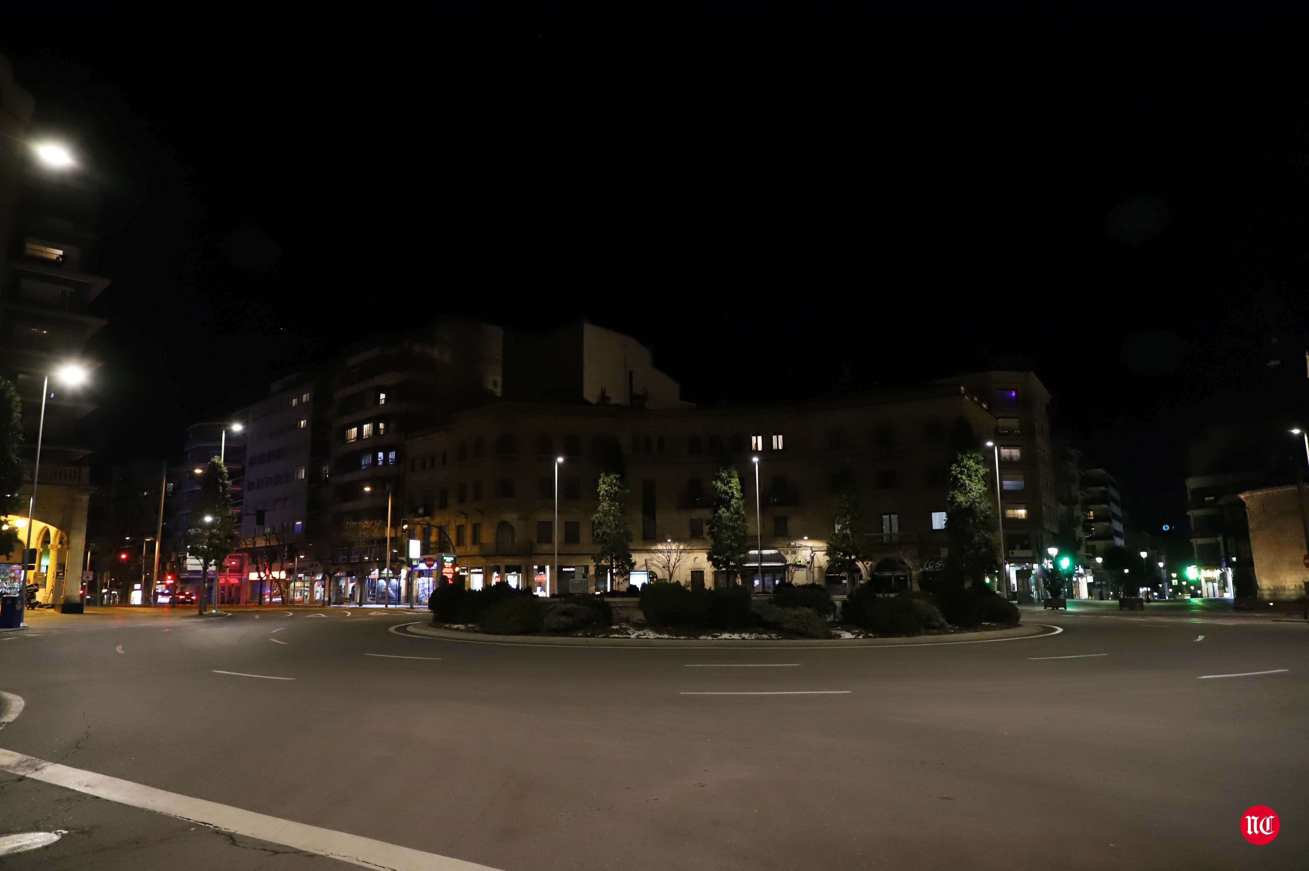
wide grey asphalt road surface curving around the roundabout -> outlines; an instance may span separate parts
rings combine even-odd
[[[346,833],[408,847],[411,863],[431,854],[384,867],[1302,868],[1309,855],[1300,622],[1089,609],[1028,612],[1066,631],[992,643],[614,650],[389,631],[425,612],[29,617],[0,634],[0,690],[25,702],[0,748],[327,832],[306,843]],[[1202,678],[1272,669],[1287,671]],[[1255,804],[1280,815],[1267,846],[1238,832]],[[0,836],[55,829],[56,843],[0,863],[356,867],[0,771]]]

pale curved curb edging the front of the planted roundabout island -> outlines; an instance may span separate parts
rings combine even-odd
[[[487,635],[483,633],[437,629],[425,622],[391,626],[397,635],[423,635],[465,644],[524,644],[528,647],[939,647],[944,644],[982,644],[986,642],[1045,638],[1063,631],[1059,626],[1030,623],[1011,629],[994,629],[957,635],[918,635],[915,638],[576,638],[571,635]],[[932,640],[949,638],[950,640]]]

